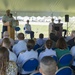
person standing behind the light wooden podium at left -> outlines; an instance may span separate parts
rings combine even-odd
[[[2,22],[3,22],[3,28],[2,28],[2,34],[3,32],[7,31],[7,24],[10,21],[10,10],[6,10],[6,14],[3,16],[2,18]]]

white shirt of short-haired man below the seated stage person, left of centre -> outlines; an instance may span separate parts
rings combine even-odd
[[[19,40],[12,48],[13,52],[18,55],[21,51],[27,50],[27,43],[24,40]]]

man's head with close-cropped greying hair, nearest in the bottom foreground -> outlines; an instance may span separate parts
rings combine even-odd
[[[57,70],[55,60],[50,56],[42,58],[42,60],[40,61],[39,70],[42,75],[55,75],[55,72]]]

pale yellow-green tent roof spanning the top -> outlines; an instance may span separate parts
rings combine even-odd
[[[0,15],[7,9],[22,16],[73,16],[75,0],[0,0]]]

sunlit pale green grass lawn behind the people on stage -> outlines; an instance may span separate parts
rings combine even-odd
[[[20,32],[24,33],[24,25],[20,24],[19,27],[20,27],[20,31],[18,31],[17,33],[20,33]],[[41,25],[41,23],[40,23],[40,25],[38,25],[38,23],[31,24],[31,28],[32,28],[32,31],[34,31],[34,38],[38,38],[40,33],[44,34],[44,38],[48,38],[49,37],[48,25],[47,24],[45,24],[45,25]],[[63,28],[66,29],[67,27],[64,26]],[[69,24],[69,28],[68,29],[69,29],[68,30],[69,33],[71,33],[72,30],[75,30],[75,26]],[[0,24],[0,38],[1,38],[1,32],[2,32],[2,24]],[[27,35],[27,38],[29,39],[30,35]]]

